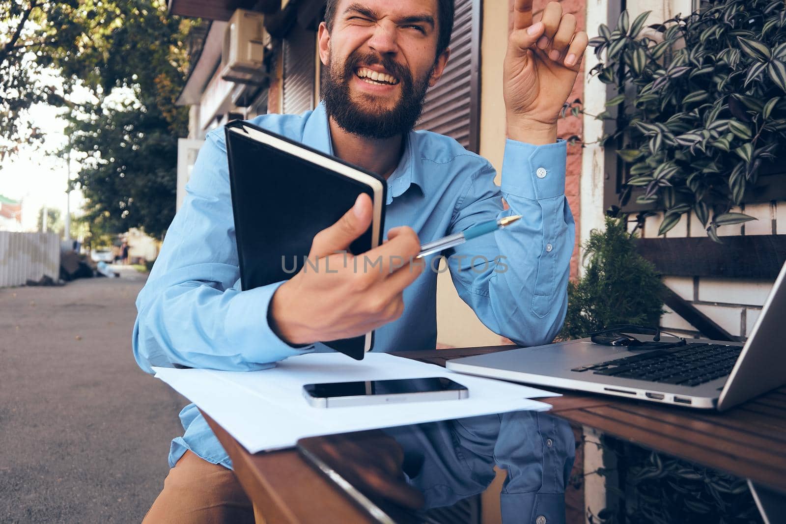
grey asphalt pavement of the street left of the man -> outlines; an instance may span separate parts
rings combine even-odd
[[[145,276],[0,288],[0,522],[141,522],[179,396],[131,354]]]

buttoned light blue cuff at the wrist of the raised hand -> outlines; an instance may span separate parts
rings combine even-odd
[[[502,192],[530,200],[564,195],[567,142],[532,145],[508,139],[502,160]]]

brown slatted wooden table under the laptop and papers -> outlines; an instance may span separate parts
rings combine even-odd
[[[489,346],[400,356],[444,366],[452,358],[509,349]],[[724,413],[563,393],[545,400],[554,406],[554,414],[571,423],[747,478],[751,487],[766,487],[766,497],[774,493],[775,504],[786,499],[786,387]],[[229,453],[237,478],[257,508],[258,522],[326,522],[325,515],[334,522],[370,522],[295,450],[252,455],[214,420],[205,419]]]

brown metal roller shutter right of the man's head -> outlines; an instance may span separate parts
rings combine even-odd
[[[456,0],[450,59],[428,90],[417,129],[455,138],[470,151],[479,146],[480,1]]]

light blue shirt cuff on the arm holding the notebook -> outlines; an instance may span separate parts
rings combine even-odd
[[[314,344],[290,346],[270,328],[267,310],[279,286],[277,282],[238,293],[230,302],[226,315],[226,332],[232,333],[238,352],[251,362],[276,362],[310,353]]]

